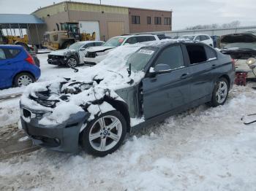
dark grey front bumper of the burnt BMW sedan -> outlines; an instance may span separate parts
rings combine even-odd
[[[59,152],[78,152],[80,129],[88,119],[88,113],[71,114],[69,120],[59,125],[40,125],[37,117],[33,116],[33,113],[31,118],[21,114],[20,121],[35,145]]]

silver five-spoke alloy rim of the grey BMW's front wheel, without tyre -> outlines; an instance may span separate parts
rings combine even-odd
[[[115,116],[108,115],[94,122],[89,132],[89,142],[91,147],[104,152],[118,144],[121,134],[121,121]]]

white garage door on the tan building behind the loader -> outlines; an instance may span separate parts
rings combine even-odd
[[[80,33],[92,34],[95,32],[95,40],[100,40],[99,21],[79,21]]]

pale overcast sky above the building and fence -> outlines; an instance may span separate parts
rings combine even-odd
[[[75,0],[99,3],[99,0]],[[61,0],[0,0],[0,13],[31,13]],[[230,23],[256,26],[255,0],[102,0],[102,4],[173,10],[173,30],[187,26]]]

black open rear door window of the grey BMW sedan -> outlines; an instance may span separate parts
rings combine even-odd
[[[201,44],[186,44],[190,64],[206,62],[206,50]]]

